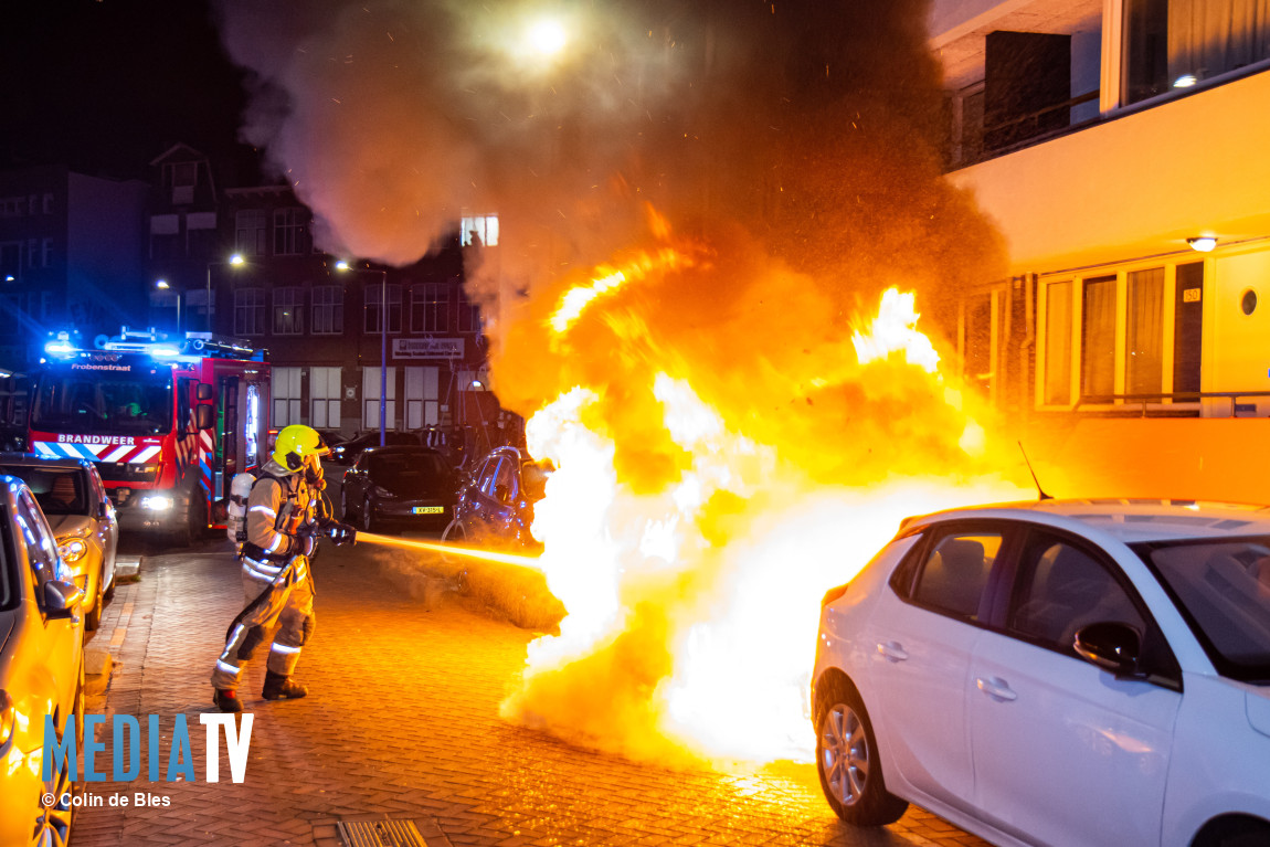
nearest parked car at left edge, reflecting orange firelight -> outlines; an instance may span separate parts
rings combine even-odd
[[[64,757],[43,778],[44,716],[81,738],[83,598],[30,490],[0,475],[0,844],[70,841],[75,775]]]

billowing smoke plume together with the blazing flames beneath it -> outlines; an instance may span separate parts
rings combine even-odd
[[[572,33],[551,61],[521,41],[545,11]],[[405,264],[499,215],[467,278],[499,399],[550,404],[535,531],[569,610],[504,712],[641,756],[805,754],[823,590],[899,517],[1016,493],[968,484],[1001,465],[972,392],[852,340],[885,288],[930,331],[1003,267],[941,177],[926,0],[220,13],[244,133],[320,246]]]

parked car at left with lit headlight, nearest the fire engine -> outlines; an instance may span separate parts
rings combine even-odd
[[[0,474],[27,484],[48,518],[62,560],[84,590],[84,627],[102,622],[102,608],[114,594],[114,554],[119,523],[114,504],[93,462],[86,458],[42,458],[0,455]]]

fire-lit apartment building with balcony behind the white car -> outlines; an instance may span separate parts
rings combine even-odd
[[[1270,4],[936,0],[930,24],[949,178],[1010,250],[961,300],[966,375],[1053,464],[1137,467],[1082,493],[1265,500],[1240,469],[1270,461]]]

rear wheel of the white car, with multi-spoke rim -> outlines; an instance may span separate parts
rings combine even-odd
[[[886,791],[869,714],[848,683],[831,686],[815,731],[820,789],[833,811],[855,827],[894,823],[908,803]]]

